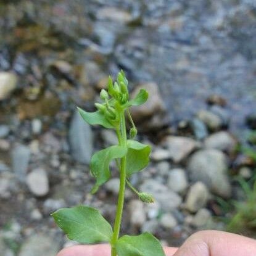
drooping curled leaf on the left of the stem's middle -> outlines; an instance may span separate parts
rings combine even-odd
[[[109,180],[109,163],[113,159],[123,157],[126,152],[126,147],[114,145],[107,147],[107,149],[102,149],[93,155],[90,168],[92,175],[96,178],[96,184],[91,192],[95,193],[99,186]]]

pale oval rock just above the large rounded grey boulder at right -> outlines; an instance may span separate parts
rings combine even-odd
[[[219,149],[220,151],[232,152],[236,149],[237,142],[226,131],[213,133],[204,141],[204,146],[209,149]]]

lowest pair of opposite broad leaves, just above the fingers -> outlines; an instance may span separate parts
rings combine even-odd
[[[113,231],[110,224],[98,210],[78,205],[72,209],[60,209],[52,214],[56,223],[69,239],[82,244],[109,242],[112,244]],[[159,241],[150,233],[139,236],[122,236],[115,244],[118,256],[164,256]]]

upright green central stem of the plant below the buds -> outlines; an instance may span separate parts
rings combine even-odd
[[[120,117],[120,130],[117,130],[117,137],[120,146],[126,147],[126,126],[125,126],[125,112],[122,112]],[[115,224],[114,224],[114,233],[112,236],[111,241],[111,256],[117,256],[117,250],[115,249],[115,244],[118,241],[119,233],[120,233],[120,226],[123,214],[123,203],[125,201],[125,180],[126,180],[126,156],[122,157],[120,162],[120,186],[119,186],[119,193],[118,193],[118,202],[117,202],[117,213],[115,216]]]

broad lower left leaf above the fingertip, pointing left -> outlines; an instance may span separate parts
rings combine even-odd
[[[59,209],[52,217],[69,239],[80,243],[109,242],[113,234],[99,211],[85,205]]]

